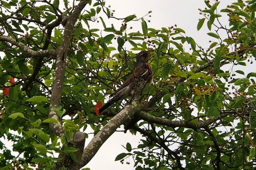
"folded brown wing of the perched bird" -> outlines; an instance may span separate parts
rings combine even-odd
[[[122,90],[123,88],[125,88],[126,86],[129,86],[130,83],[134,82],[135,79],[138,79],[140,76],[143,76],[144,74],[146,74],[148,71],[148,69],[144,68],[144,67],[137,67],[134,71],[133,74],[130,75],[130,77],[125,80],[123,82],[123,84],[113,93],[110,95],[110,98],[112,98],[112,96],[115,96],[116,93],[118,93],[118,91]]]

